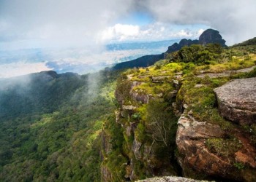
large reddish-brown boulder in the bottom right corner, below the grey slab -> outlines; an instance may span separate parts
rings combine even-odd
[[[220,141],[213,145],[225,148],[227,133],[217,124],[197,122],[189,114],[182,114],[178,119],[176,144],[178,163],[181,165],[183,175],[192,178],[194,177],[192,173],[203,173],[218,178],[253,181],[256,174],[248,179],[246,170],[242,172],[236,165],[251,167],[250,170],[255,170],[255,147],[244,137],[241,130],[234,130],[233,137],[238,138],[238,148],[231,149],[233,144],[227,144],[227,147],[230,147],[230,149],[224,149],[230,150],[227,155],[220,154],[223,149],[211,150],[209,141]]]

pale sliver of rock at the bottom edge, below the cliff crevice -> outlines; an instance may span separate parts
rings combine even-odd
[[[148,178],[146,180],[141,180],[138,182],[207,182],[207,181],[200,181],[200,180],[193,180],[190,178],[182,178],[177,176],[165,176],[161,178]]]

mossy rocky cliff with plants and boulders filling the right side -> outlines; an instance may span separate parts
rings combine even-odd
[[[121,74],[118,108],[105,127],[103,181],[256,180],[256,52],[238,58],[245,50],[232,49],[185,47]],[[227,52],[236,53],[223,59]]]

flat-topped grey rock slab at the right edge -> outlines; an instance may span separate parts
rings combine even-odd
[[[235,79],[214,92],[223,117],[239,124],[256,123],[256,78]]]

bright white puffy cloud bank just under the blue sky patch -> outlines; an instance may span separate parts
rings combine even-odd
[[[183,28],[167,23],[151,23],[148,25],[116,24],[105,28],[99,33],[98,40],[105,41],[158,41],[166,39],[197,39],[205,29],[193,28],[188,25]]]

